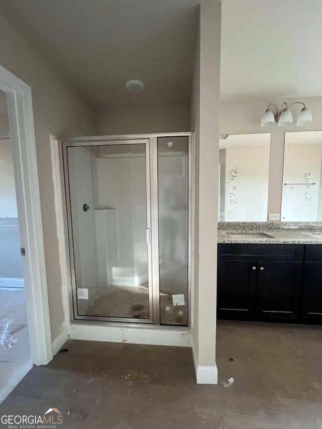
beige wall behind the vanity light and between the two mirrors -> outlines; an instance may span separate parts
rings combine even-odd
[[[296,117],[301,109],[301,106],[297,105],[290,108],[295,124],[284,127],[279,127],[277,124],[261,127],[261,118],[268,104],[274,103],[280,107],[283,101],[293,103],[298,100],[254,99],[220,103],[220,134],[271,133],[268,213],[281,213],[285,132],[322,130],[322,97],[300,99],[311,110],[313,116],[313,121],[308,125],[296,126]]]

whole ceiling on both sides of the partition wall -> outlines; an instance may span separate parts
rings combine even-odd
[[[190,102],[199,3],[1,0],[1,12],[94,107],[138,107]],[[222,0],[221,100],[322,96],[321,16],[322,0]]]

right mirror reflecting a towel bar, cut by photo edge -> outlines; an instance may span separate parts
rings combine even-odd
[[[281,220],[322,220],[322,131],[285,133]]]

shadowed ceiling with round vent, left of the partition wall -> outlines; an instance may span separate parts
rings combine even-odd
[[[199,3],[1,0],[1,12],[95,107],[150,106],[190,102]]]

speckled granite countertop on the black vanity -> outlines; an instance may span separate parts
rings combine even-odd
[[[322,244],[322,222],[219,222],[218,243]]]

